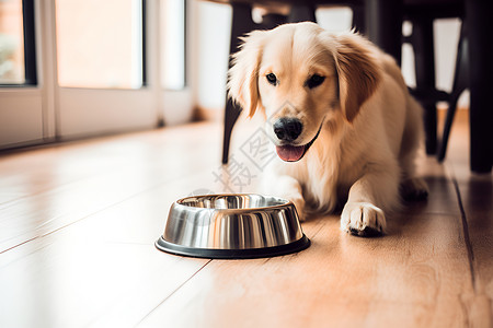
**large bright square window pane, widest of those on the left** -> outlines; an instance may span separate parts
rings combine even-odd
[[[141,87],[142,11],[141,0],[56,0],[59,85]]]

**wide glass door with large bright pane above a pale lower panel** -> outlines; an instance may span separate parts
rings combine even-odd
[[[58,134],[146,129],[157,104],[146,87],[141,0],[56,0]]]

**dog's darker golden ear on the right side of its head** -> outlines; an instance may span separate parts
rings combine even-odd
[[[374,46],[367,39],[355,33],[341,34],[334,39],[341,109],[352,122],[377,89],[381,73],[371,49]]]

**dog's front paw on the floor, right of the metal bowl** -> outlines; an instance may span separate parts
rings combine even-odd
[[[364,237],[381,235],[386,230],[386,216],[369,202],[348,202],[341,214],[341,230]]]

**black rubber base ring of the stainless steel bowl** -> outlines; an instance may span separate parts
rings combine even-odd
[[[213,249],[213,248],[194,248],[185,247],[176,244],[169,243],[161,237],[156,242],[156,247],[159,250],[171,253],[174,255],[213,258],[213,259],[246,259],[246,258],[261,258],[261,257],[274,257],[280,255],[287,255],[303,250],[310,246],[310,239],[303,234],[303,236],[290,244],[263,247],[263,248],[246,248],[246,249]]]

